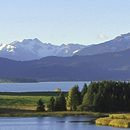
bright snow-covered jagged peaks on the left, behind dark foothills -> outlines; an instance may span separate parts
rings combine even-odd
[[[62,44],[61,46],[51,43],[42,43],[37,38],[14,41],[10,44],[0,44],[0,57],[13,60],[28,61],[47,56],[72,56],[86,47],[80,44]]]

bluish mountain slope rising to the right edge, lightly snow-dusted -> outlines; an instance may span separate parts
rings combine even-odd
[[[89,46],[77,52],[76,55],[95,55],[104,52],[115,52],[130,48],[130,33],[121,34],[115,39]]]

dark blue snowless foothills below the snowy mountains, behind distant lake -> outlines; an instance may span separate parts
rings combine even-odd
[[[0,58],[0,78],[51,81],[130,80],[130,49],[92,56],[45,57],[32,61]]]

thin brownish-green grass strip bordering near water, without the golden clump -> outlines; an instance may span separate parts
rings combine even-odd
[[[66,117],[66,116],[88,116],[88,117],[104,117],[107,113],[99,112],[80,112],[80,111],[45,111],[36,112],[34,110],[18,110],[18,109],[0,109],[0,117]]]

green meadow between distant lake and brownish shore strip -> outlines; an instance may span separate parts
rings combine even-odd
[[[37,101],[41,98],[46,106],[50,97],[59,96],[60,92],[0,92],[0,108],[19,110],[36,110]],[[64,92],[67,97],[67,92]]]

